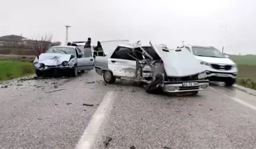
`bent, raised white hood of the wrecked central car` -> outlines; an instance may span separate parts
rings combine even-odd
[[[151,44],[152,48],[158,53],[162,61],[164,61],[167,76],[183,77],[205,72],[200,61],[188,50],[176,51],[169,49],[169,51],[163,51],[163,47],[158,44],[154,44],[151,41],[149,44]]]

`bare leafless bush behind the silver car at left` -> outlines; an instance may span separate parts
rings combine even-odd
[[[31,40],[31,47],[35,56],[39,56],[41,53],[45,53],[49,47],[53,46],[52,34],[39,34],[36,38]]]

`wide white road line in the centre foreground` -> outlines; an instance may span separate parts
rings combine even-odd
[[[103,101],[98,106],[98,109],[82,134],[81,139],[78,141],[76,149],[89,149],[92,147],[97,138],[101,124],[103,124],[108,112],[110,112],[112,108],[111,103],[113,103],[113,99],[115,98],[113,95],[114,93],[111,91],[106,93]]]

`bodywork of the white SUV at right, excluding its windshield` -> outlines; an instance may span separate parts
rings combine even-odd
[[[203,64],[204,68],[206,69],[207,79],[213,82],[225,82],[229,85],[235,83],[238,68],[236,64],[231,59],[229,59],[228,55],[223,54],[223,57],[196,56],[196,54],[193,52],[193,47],[208,49],[212,48],[214,50],[217,49],[214,47],[190,45],[185,45],[184,47],[190,51],[198,60],[200,60],[201,64]]]

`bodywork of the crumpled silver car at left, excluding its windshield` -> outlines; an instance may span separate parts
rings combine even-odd
[[[37,73],[58,70],[72,70],[74,66],[78,70],[94,69],[94,59],[91,54],[83,57],[81,50],[76,46],[53,46],[51,48],[73,48],[75,55],[65,53],[41,53],[34,59],[33,65]],[[48,50],[49,50],[48,49]],[[64,65],[64,61],[67,61]]]

